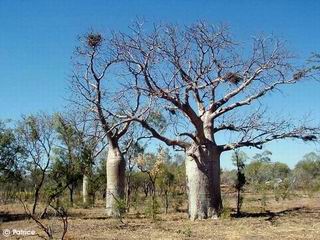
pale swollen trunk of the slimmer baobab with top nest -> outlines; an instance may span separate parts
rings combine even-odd
[[[108,216],[119,216],[119,201],[124,200],[125,160],[118,147],[110,146],[107,158],[106,211]]]

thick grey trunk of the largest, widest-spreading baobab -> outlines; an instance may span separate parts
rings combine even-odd
[[[187,152],[186,175],[191,220],[217,218],[222,210],[220,153],[214,147],[203,148],[201,152]]]

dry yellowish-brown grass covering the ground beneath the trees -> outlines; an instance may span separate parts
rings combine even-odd
[[[188,220],[186,213],[160,214],[156,222],[143,215],[129,214],[122,224],[116,219],[106,218],[103,208],[71,209],[67,239],[320,239],[319,200],[318,197],[296,197],[280,202],[269,200],[264,210],[259,201],[251,200],[245,202],[245,214],[241,218],[195,222]],[[234,206],[231,201],[229,204]],[[23,216],[19,205],[1,206],[0,212],[11,217]],[[58,220],[51,219],[49,224],[58,237],[61,231]],[[19,217],[3,222],[1,229],[6,228],[33,229],[44,236],[31,220],[19,220]]]

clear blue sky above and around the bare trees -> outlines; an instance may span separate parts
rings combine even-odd
[[[136,17],[149,22],[189,24],[197,20],[226,23],[236,39],[247,41],[260,33],[287,40],[305,58],[320,52],[320,1],[0,1],[0,119],[21,114],[58,111],[66,104],[70,57],[77,36],[94,28],[126,31]],[[320,84],[290,87],[270,98],[275,112],[301,117],[312,112],[320,119]],[[281,102],[281,104],[279,104]],[[294,166],[319,149],[313,144],[277,142],[266,146],[273,160]],[[249,155],[253,152],[249,151]],[[222,166],[230,167],[229,155]]]

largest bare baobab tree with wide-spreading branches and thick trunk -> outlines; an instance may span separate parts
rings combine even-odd
[[[265,96],[314,76],[312,68],[294,65],[280,40],[254,38],[246,51],[224,26],[197,23],[148,31],[137,23],[130,29],[112,43],[135,79],[131,87],[156,103],[167,131],[155,129],[147,117],[135,121],[186,152],[191,219],[216,218],[222,210],[222,153],[260,149],[278,139],[317,140],[318,127],[274,117],[264,107]]]

